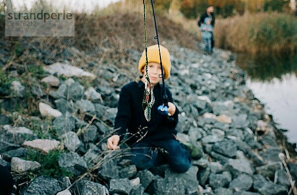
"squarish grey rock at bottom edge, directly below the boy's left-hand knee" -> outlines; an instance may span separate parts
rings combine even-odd
[[[121,195],[129,195],[132,190],[130,181],[127,178],[124,179],[111,179],[109,182],[109,192],[118,193]]]

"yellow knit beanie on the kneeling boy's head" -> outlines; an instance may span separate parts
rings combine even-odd
[[[170,76],[171,62],[170,62],[170,53],[168,49],[160,45],[162,66],[164,70],[164,79],[168,79]],[[160,63],[160,55],[158,45],[153,45],[148,47],[148,63],[156,62]],[[146,50],[141,55],[141,58],[138,62],[138,70],[141,70],[146,66]],[[142,72],[141,72],[142,73]]]

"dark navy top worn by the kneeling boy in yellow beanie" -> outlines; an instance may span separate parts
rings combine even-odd
[[[126,133],[127,128],[128,133],[130,133],[129,136],[136,134],[127,141],[128,145],[132,145],[137,141],[153,142],[175,139],[173,135],[177,133],[175,128],[178,123],[178,108],[176,107],[176,111],[172,115],[174,120],[168,120],[166,116],[158,113],[157,107],[163,103],[162,85],[158,83],[153,87],[155,102],[150,110],[150,121],[148,122],[142,108],[144,91],[145,84],[142,81],[138,83],[134,81],[122,87],[114,123],[115,134],[122,137]],[[168,101],[172,102],[172,95],[167,87],[166,92]],[[139,131],[143,127],[147,128]],[[141,139],[143,135],[145,136]]]

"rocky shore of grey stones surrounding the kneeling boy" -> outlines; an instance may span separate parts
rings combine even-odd
[[[116,151],[105,144],[120,89],[138,75],[139,51],[129,49],[134,65],[98,59],[79,67],[73,61],[86,56],[79,49],[65,48],[59,61],[32,50],[48,64],[31,70],[38,74],[35,80],[23,83],[18,78],[24,70],[15,66],[1,75],[0,164],[12,172],[16,194],[293,194],[296,145],[287,143],[247,88],[246,74],[231,52],[169,49],[172,69],[166,84],[180,110],[178,137],[200,150],[192,167],[178,174],[167,165],[139,171],[125,144]],[[4,52],[0,67],[8,61]],[[23,112],[30,109],[35,110],[30,115]]]

